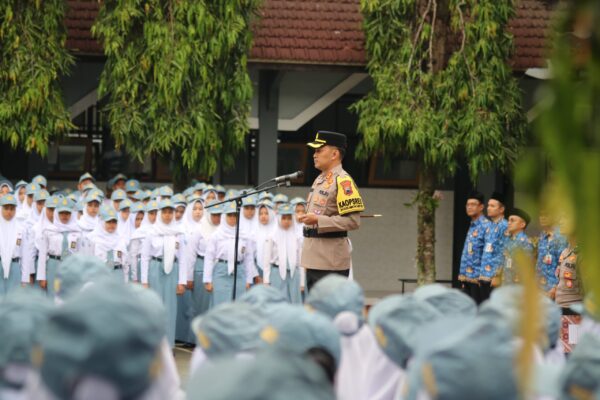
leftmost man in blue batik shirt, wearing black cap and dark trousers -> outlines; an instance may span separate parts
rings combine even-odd
[[[466,212],[471,218],[471,225],[465,239],[458,274],[463,292],[477,303],[479,303],[480,297],[479,275],[485,244],[484,233],[489,225],[489,220],[483,215],[484,204],[483,195],[479,192],[472,192],[467,198]]]

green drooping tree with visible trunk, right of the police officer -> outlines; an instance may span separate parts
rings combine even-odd
[[[435,280],[436,184],[465,160],[506,170],[524,135],[508,65],[512,0],[361,0],[374,89],[355,104],[360,156],[419,162],[419,284]]]

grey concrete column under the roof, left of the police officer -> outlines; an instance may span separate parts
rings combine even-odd
[[[261,70],[258,78],[258,184],[277,176],[279,86],[283,73]]]

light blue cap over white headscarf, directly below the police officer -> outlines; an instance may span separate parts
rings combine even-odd
[[[358,283],[340,275],[331,274],[318,281],[306,304],[334,320],[345,335],[353,335],[364,323],[364,292]]]

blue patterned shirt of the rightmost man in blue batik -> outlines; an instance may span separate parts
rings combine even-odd
[[[550,291],[558,285],[556,277],[556,268],[560,254],[567,248],[567,239],[558,233],[558,229],[548,234],[540,233],[538,242],[538,255],[535,269],[540,287],[545,291]]]

